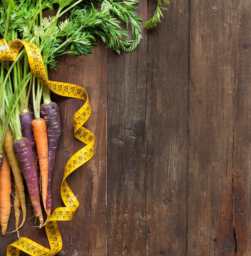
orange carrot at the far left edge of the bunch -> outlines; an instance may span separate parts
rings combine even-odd
[[[2,236],[6,234],[11,214],[11,168],[3,150],[4,161],[0,171],[0,225]]]

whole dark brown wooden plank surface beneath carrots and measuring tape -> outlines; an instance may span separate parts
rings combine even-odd
[[[145,22],[155,1],[138,7]],[[135,51],[117,55],[101,43],[89,56],[60,59],[50,73],[87,90],[85,126],[96,136],[93,158],[67,178],[80,207],[58,222],[59,256],[251,255],[250,3],[168,8],[156,28],[142,23]],[[82,147],[72,129],[82,102],[53,99],[62,120],[56,208],[64,165]],[[49,247],[28,209],[21,236]],[[9,231],[13,221],[11,212]],[[16,239],[1,236],[0,255]]]

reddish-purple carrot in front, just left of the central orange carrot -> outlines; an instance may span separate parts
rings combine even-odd
[[[44,220],[40,205],[36,164],[32,153],[31,144],[27,138],[23,138],[19,141],[14,141],[12,147],[16,154],[16,158],[18,159],[18,164],[20,165],[24,180],[27,184],[34,214],[39,219],[39,227],[41,228]]]

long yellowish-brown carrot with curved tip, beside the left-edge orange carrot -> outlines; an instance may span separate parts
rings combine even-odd
[[[4,136],[4,149],[6,151],[6,155],[9,160],[9,164],[11,166],[11,170],[14,176],[14,180],[16,183],[16,188],[18,191],[18,196],[21,204],[22,209],[22,223],[20,224],[19,228],[24,225],[24,222],[26,220],[27,216],[27,209],[26,209],[26,200],[25,200],[25,194],[24,194],[24,183],[23,183],[23,177],[21,173],[20,166],[18,164],[18,160],[16,158],[15,152],[12,148],[14,139],[13,139],[13,133],[11,131],[11,128],[8,126],[7,131]]]

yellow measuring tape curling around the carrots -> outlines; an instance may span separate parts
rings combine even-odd
[[[73,115],[73,128],[75,137],[86,144],[86,146],[71,156],[64,168],[60,193],[65,207],[55,209],[45,225],[50,249],[26,237],[16,240],[7,247],[7,256],[19,256],[20,250],[33,256],[53,256],[63,246],[57,221],[71,220],[79,207],[79,202],[67,184],[66,178],[79,166],[91,159],[94,154],[94,135],[91,131],[83,127],[83,124],[91,114],[91,106],[87,92],[82,87],[70,83],[49,81],[47,79],[42,56],[38,47],[33,43],[13,40],[8,45],[6,40],[0,40],[0,61],[15,61],[22,47],[26,49],[31,72],[53,92],[65,97],[85,101],[84,105]]]

